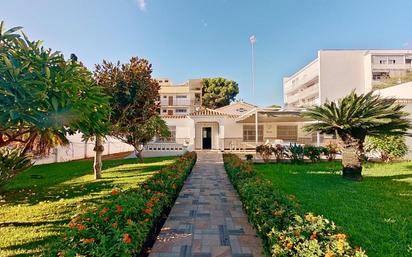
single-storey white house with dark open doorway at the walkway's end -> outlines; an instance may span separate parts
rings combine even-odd
[[[245,102],[197,110],[181,115],[162,115],[172,136],[146,145],[150,151],[173,150],[252,150],[265,142],[319,143],[316,135],[303,131],[310,122],[300,110],[259,108]]]

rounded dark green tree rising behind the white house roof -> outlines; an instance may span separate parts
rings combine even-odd
[[[233,80],[224,78],[202,79],[203,106],[216,109],[230,104],[239,94],[239,86]]]

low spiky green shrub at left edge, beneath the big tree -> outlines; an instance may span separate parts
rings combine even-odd
[[[19,172],[33,165],[30,155],[22,154],[21,149],[0,149],[0,186],[10,181]]]

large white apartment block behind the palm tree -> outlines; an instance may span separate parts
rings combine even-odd
[[[352,90],[365,93],[412,70],[412,50],[320,50],[315,60],[283,79],[286,107],[319,105]]]

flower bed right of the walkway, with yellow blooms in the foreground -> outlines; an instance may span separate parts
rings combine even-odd
[[[234,154],[223,156],[226,172],[239,193],[249,221],[268,256],[366,257],[345,234],[322,216],[303,214],[294,196],[286,196]]]

